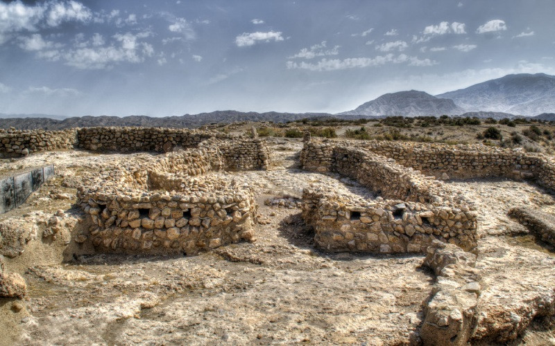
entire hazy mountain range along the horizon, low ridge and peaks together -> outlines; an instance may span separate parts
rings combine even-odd
[[[302,118],[356,119],[384,116],[477,116],[479,118],[514,118],[536,116],[555,120],[555,76],[545,73],[506,75],[468,88],[430,95],[424,91],[386,93],[361,104],[352,111],[330,113],[280,113],[213,111],[184,116],[83,116],[66,118],[44,114],[0,113],[0,128],[67,129],[91,126],[199,127],[238,121],[287,122]],[[540,114],[541,113],[541,114]],[[540,115],[538,115],[540,114]]]

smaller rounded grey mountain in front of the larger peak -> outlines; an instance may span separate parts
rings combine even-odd
[[[441,116],[463,113],[453,100],[436,98],[424,91],[400,91],[386,93],[379,98],[361,104],[352,111],[339,115],[364,116]]]

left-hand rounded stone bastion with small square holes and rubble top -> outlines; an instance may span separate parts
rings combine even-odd
[[[78,198],[92,226],[76,242],[91,241],[100,251],[191,254],[252,239],[253,192],[217,174],[259,165],[251,149],[260,142],[245,141],[207,141],[89,177]]]

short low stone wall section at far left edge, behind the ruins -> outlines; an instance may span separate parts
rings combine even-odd
[[[32,152],[71,149],[76,143],[76,130],[17,131],[0,129],[0,154],[23,156]]]

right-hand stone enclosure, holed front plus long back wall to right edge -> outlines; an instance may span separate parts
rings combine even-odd
[[[375,200],[303,193],[302,215],[327,251],[425,253],[434,239],[476,251],[477,210],[434,176],[529,179],[555,187],[555,165],[542,155],[472,145],[307,140],[305,170],[336,172],[377,192]]]

